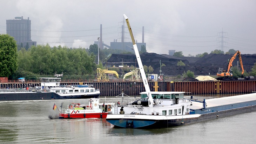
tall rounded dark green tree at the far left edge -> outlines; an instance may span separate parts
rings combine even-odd
[[[0,34],[0,77],[9,77],[17,69],[16,41],[10,35]]]

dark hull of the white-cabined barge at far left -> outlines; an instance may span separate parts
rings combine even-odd
[[[89,99],[98,98],[100,94],[60,96],[54,92],[13,92],[0,93],[0,101],[4,100],[50,100],[50,99]]]

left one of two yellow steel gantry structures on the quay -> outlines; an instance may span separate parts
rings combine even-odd
[[[97,68],[97,81],[109,81],[109,78],[106,74],[115,74],[116,78],[119,78],[118,77],[118,73],[116,71],[110,71],[108,69],[100,69],[100,68]]]

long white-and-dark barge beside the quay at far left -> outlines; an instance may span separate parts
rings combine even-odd
[[[62,76],[62,74],[58,74],[58,76]],[[95,89],[93,85],[60,86],[61,78],[39,79],[41,80],[40,87],[2,90],[0,100],[89,99],[100,96],[100,90]]]

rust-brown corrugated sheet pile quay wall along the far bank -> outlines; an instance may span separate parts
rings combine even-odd
[[[123,93],[129,96],[145,91],[143,82],[86,82],[100,89],[101,96],[117,96]],[[251,81],[195,81],[195,82],[148,82],[151,91],[182,91],[190,94],[232,94],[256,91],[256,80]],[[79,82],[61,82],[61,85],[79,85]],[[27,88],[40,86],[38,82],[0,83],[1,89]]]

